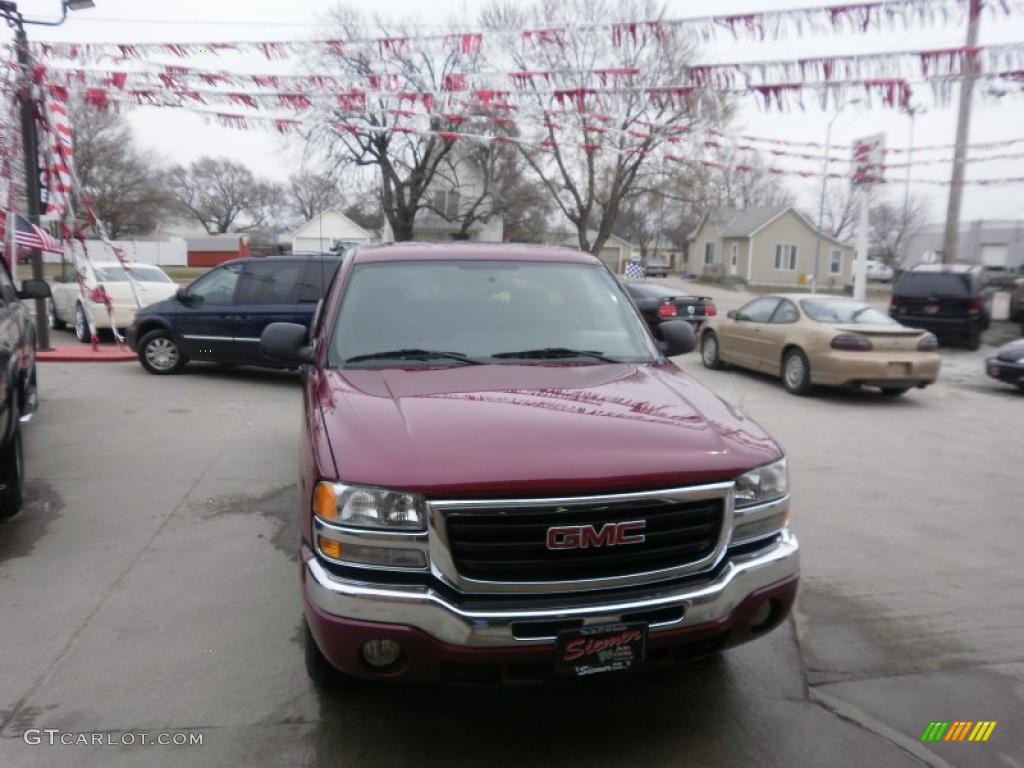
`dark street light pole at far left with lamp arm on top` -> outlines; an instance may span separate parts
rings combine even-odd
[[[25,18],[17,9],[17,3],[0,2],[0,15],[14,29],[14,46],[17,53],[17,63],[22,71],[22,151],[25,157],[25,195],[28,203],[29,220],[39,225],[39,144],[35,126],[36,101],[32,98],[32,55],[29,52],[29,38],[25,34],[25,25],[37,24],[44,27],[58,27],[68,18],[68,11],[91,8],[92,0],[62,0],[60,3],[60,18],[54,22],[30,20]],[[8,222],[8,226],[11,222]],[[34,249],[31,254],[32,276],[43,280],[43,252]],[[61,256],[62,260],[62,256]],[[13,263],[13,262],[12,262]],[[46,300],[36,299],[36,344],[40,349],[50,348],[50,327],[47,322]]]

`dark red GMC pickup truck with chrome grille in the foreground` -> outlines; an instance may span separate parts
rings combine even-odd
[[[477,244],[359,248],[310,331],[264,331],[303,371],[314,681],[649,669],[786,616],[782,450],[656,335],[595,257]]]

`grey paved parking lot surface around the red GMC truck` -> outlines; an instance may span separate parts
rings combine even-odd
[[[0,765],[1024,765],[1024,396],[978,356],[898,399],[679,359],[791,459],[802,591],[768,637],[657,677],[329,694],[302,665],[297,376],[47,364],[0,525]],[[937,719],[998,726],[926,749]]]

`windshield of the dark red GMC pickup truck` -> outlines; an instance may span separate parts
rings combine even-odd
[[[650,361],[646,329],[598,265],[538,261],[356,264],[332,367]]]

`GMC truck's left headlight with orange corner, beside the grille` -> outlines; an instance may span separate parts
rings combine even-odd
[[[400,490],[319,482],[313,493],[313,512],[328,522],[353,527],[427,529],[423,497]]]

